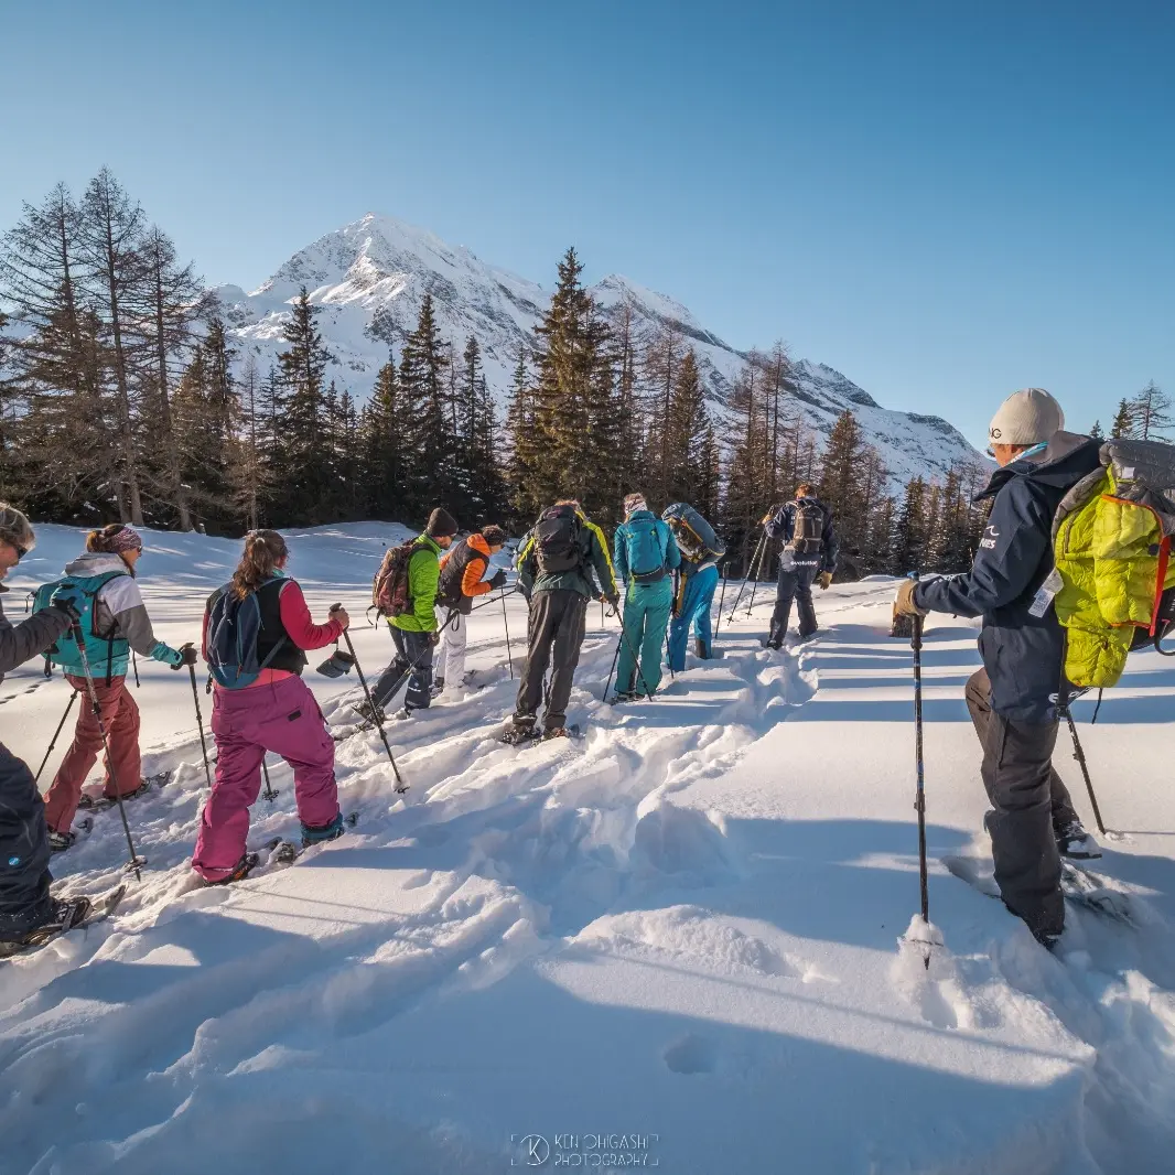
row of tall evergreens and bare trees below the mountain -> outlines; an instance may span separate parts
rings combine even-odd
[[[714,407],[683,328],[638,333],[631,308],[605,314],[580,275],[569,249],[504,421],[477,340],[443,338],[429,294],[360,407],[327,380],[304,288],[261,370],[109,172],[76,200],[58,184],[0,244],[0,495],[40,519],[221,533],[418,523],[435,505],[466,526],[521,531],[564,497],[615,524],[640,489],[657,509],[696,505],[741,573],[764,513],[804,481],[837,512],[845,576],[969,563],[985,524],[972,505],[981,463],[895,494],[852,411],[821,444],[783,343],[752,351]],[[1170,425],[1152,382],[1121,402],[1112,435]]]

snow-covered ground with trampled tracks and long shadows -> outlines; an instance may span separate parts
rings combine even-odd
[[[357,616],[398,535],[293,536],[315,612],[341,596]],[[25,582],[75,546],[42,528],[47,565],[22,562]],[[169,639],[195,633],[234,546],[150,536],[143,586]],[[724,622],[721,660],[691,660],[623,710],[598,701],[617,630],[593,609],[571,706],[586,738],[529,750],[495,740],[515,683],[501,610],[476,612],[485,689],[392,728],[407,805],[378,740],[350,738],[338,779],[355,832],[230,889],[189,888],[192,696],[145,666],[147,767],[179,778],[129,810],[150,867],[120,913],[0,964],[0,1170],[484,1175],[604,1154],[697,1175],[1169,1170],[1175,671],[1139,657],[1082,725],[1102,808],[1130,830],[1102,870],[1140,928],[1070,911],[1053,956],[941,864],[982,866],[985,804],[961,700],[974,630],[929,630],[931,911],[946,947],[927,973],[897,945],[918,875],[892,591],[834,586],[819,639],[779,654],[758,645],[760,593],[752,618]],[[19,613],[19,593],[7,600]],[[524,625],[513,597],[515,642]],[[374,671],[390,642],[356,640]],[[308,680],[342,720],[356,683]],[[11,676],[6,744],[35,764],[66,697],[35,665]],[[271,774],[281,794],[253,810],[257,842],[295,828],[289,772]],[[55,859],[67,892],[120,875],[118,817],[98,821]]]

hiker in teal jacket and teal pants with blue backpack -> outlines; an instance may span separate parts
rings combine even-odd
[[[642,494],[624,499],[624,522],[616,529],[613,548],[616,578],[627,588],[615,700],[631,701],[656,693],[660,685],[662,649],[673,607],[671,572],[682,565],[682,552],[669,524],[649,509]]]

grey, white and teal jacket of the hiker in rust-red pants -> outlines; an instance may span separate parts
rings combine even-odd
[[[86,656],[95,677],[126,677],[130,665],[130,650],[140,657],[179,665],[183,657],[179,650],[155,639],[142,592],[130,569],[118,555],[87,551],[66,564],[65,578],[82,591],[93,591],[103,576],[109,578],[98,589],[94,600],[94,622],[98,632],[86,631]],[[40,613],[38,613],[40,615]],[[81,656],[72,640],[58,643],[53,660],[67,673],[82,674]]]

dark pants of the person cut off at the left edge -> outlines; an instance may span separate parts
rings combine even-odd
[[[49,837],[33,773],[0,744],[0,940],[14,941],[53,916]]]

